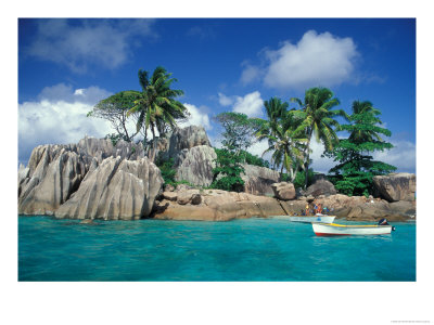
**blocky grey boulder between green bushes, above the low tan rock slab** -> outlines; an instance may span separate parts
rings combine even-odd
[[[208,145],[199,145],[183,150],[177,156],[175,166],[177,181],[188,181],[191,184],[208,186],[213,182],[214,160],[216,152]]]

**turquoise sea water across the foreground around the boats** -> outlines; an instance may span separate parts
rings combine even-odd
[[[339,221],[340,223],[349,223]],[[18,217],[18,281],[416,281],[416,224],[317,237],[310,224]]]

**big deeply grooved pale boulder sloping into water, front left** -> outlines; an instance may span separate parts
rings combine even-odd
[[[159,169],[148,158],[104,159],[78,191],[54,213],[56,218],[131,220],[148,217],[163,186]]]

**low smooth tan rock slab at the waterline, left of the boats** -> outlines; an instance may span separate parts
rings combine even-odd
[[[194,190],[186,196],[201,196],[201,202],[186,204],[163,199],[156,207],[155,219],[228,221],[252,217],[285,214],[277,199],[247,193],[234,193],[220,190]],[[179,198],[178,198],[179,199]]]

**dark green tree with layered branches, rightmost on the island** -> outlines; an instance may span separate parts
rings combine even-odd
[[[372,103],[355,101],[349,123],[341,126],[341,130],[349,132],[348,139],[324,155],[333,157],[339,164],[329,173],[339,192],[347,195],[372,194],[372,178],[396,170],[396,167],[373,160],[370,153],[390,150],[393,145],[381,139],[381,134],[391,136],[390,130],[380,127],[380,109],[373,108]]]

